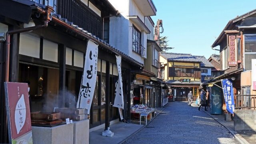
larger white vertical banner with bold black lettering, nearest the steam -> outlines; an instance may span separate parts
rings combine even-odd
[[[98,44],[95,44],[92,40],[89,40],[85,54],[84,73],[81,82],[82,84],[76,105],[76,108],[86,108],[87,114],[90,114],[92,98],[94,96],[97,78],[97,62]]]

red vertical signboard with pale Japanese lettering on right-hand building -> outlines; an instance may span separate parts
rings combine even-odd
[[[228,66],[236,66],[236,36],[229,35],[228,36],[228,47],[229,47],[229,54],[228,54]]]

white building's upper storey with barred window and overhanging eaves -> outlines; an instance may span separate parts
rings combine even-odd
[[[153,33],[145,24],[147,16],[156,15],[152,0],[109,0],[121,17],[110,17],[109,43],[144,64],[147,58],[147,34]],[[151,29],[151,30],[150,30]]]

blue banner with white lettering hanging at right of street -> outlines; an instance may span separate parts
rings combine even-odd
[[[234,113],[234,92],[233,92],[232,82],[230,82],[228,79],[222,80],[222,88],[223,88],[223,94],[224,94],[227,111],[233,114]]]

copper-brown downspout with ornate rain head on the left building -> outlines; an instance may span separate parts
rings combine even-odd
[[[10,30],[6,32],[6,65],[5,65],[5,81],[9,82],[9,65],[10,65],[10,35],[12,34],[19,34],[22,32],[29,32],[32,30],[38,30],[40,28],[46,28],[48,26],[48,22],[52,19],[52,12],[54,9],[50,6],[46,6],[46,11],[42,10],[41,8],[37,8],[39,13],[46,14],[46,20],[44,20],[43,25],[32,26],[28,28],[20,28],[17,30]]]

